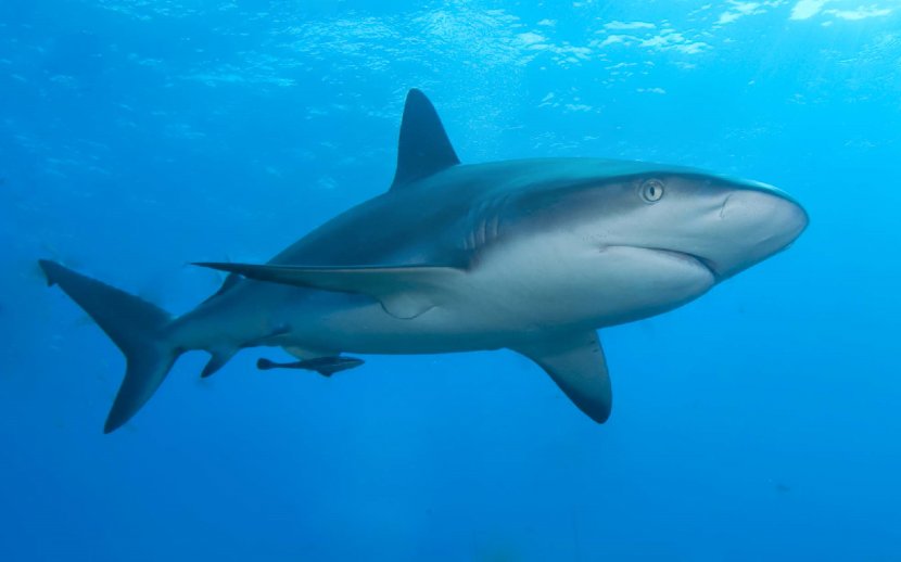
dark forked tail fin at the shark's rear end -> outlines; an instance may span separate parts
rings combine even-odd
[[[125,380],[103,429],[104,433],[110,433],[147,404],[178,358],[180,352],[163,337],[163,329],[170,317],[137,296],[60,264],[47,259],[38,264],[47,276],[47,284],[60,285],[125,355]]]

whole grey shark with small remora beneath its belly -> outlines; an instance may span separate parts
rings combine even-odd
[[[199,264],[229,277],[181,317],[53,261],[40,266],[126,357],[106,433],[137,413],[182,353],[210,353],[208,376],[254,346],[300,359],[265,368],[329,374],[363,362],[342,353],[508,348],[602,423],[612,394],[597,329],[682,306],[784,250],[807,225],[775,188],[693,168],[595,158],[461,165],[432,104],[410,90],[388,192],[267,264]]]

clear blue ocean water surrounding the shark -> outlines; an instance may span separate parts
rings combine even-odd
[[[611,420],[508,352],[323,379],[124,360],[36,266],[183,312],[385,190],[407,89],[464,162],[776,184],[811,226],[605,329]],[[0,3],[3,560],[901,560],[894,0]]]

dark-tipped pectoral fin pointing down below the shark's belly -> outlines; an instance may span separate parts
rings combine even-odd
[[[591,419],[604,423],[610,417],[613,395],[597,332],[554,335],[515,350],[538,363]]]

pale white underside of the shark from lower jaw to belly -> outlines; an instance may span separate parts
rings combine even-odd
[[[301,347],[361,354],[493,349],[647,318],[713,283],[682,254],[588,244],[573,252],[562,237],[531,240],[481,256],[470,272],[426,295],[433,306],[415,318],[365,298],[326,298],[304,308],[290,337]]]

